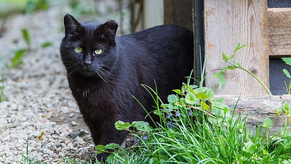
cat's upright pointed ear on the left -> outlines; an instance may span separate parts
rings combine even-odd
[[[70,14],[64,17],[65,35],[76,34],[81,29],[81,24]]]

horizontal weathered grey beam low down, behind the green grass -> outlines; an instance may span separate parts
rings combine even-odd
[[[291,95],[217,95],[215,97],[224,97],[225,104],[233,109],[237,102],[235,113],[241,112],[242,118],[246,117],[248,124],[261,124],[265,117],[269,117],[274,121],[276,116],[275,108],[282,107],[285,102],[291,104]],[[281,128],[285,125],[286,114],[281,114],[274,122],[273,130]]]

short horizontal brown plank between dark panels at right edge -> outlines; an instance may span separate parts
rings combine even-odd
[[[291,8],[268,8],[269,57],[291,57]]]

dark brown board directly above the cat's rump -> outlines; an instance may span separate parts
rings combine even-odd
[[[164,24],[193,30],[192,0],[164,0]]]

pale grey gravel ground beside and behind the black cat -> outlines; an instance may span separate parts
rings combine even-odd
[[[126,5],[126,4],[125,4]],[[116,1],[98,1],[99,16],[80,16],[83,20],[110,20],[119,17],[104,8],[117,11]],[[0,38],[0,57],[10,63],[14,52],[26,48],[21,29],[31,35],[31,50],[18,68],[1,69],[5,79],[7,100],[0,103],[0,163],[29,160],[60,163],[63,157],[89,160],[94,155],[94,144],[87,127],[79,116],[78,107],[65,80],[59,58],[59,44],[63,37],[63,16],[71,13],[67,1],[53,1],[48,11],[13,15],[4,24]],[[129,12],[125,11],[123,29],[129,27]],[[1,20],[0,20],[1,21]],[[1,22],[0,22],[1,23]],[[127,33],[127,31],[126,31]],[[41,48],[44,42],[52,46]],[[70,119],[70,120],[69,120]],[[3,158],[1,158],[3,156]]]

